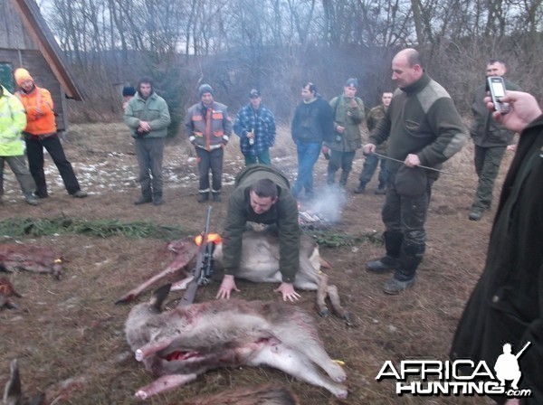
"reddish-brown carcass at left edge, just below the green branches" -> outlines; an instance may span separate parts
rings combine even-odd
[[[0,244],[0,270],[3,271],[27,270],[61,279],[63,262],[62,255],[49,247]]]

